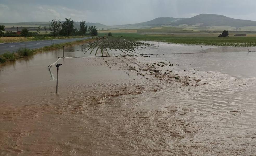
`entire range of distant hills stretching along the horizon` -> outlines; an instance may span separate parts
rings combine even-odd
[[[0,25],[5,25],[6,28],[14,27],[31,27],[35,28],[38,26],[46,26],[50,25],[50,22],[19,22],[19,23],[0,23]],[[79,22],[74,22],[75,28],[80,27]],[[104,30],[112,30],[112,29],[149,29],[154,27],[162,27],[162,26],[178,26],[182,28],[186,28],[186,26],[198,28],[205,26],[230,26],[240,28],[244,26],[256,26],[256,21],[244,20],[244,19],[234,19],[230,17],[226,17],[223,15],[215,15],[215,14],[200,14],[191,18],[172,18],[172,17],[158,17],[151,21],[135,23],[135,24],[125,24],[125,25],[112,25],[107,26],[101,23],[86,23],[88,26],[95,25],[97,29],[104,28]],[[169,28],[174,30],[174,28]],[[200,29],[201,30],[201,29]]]

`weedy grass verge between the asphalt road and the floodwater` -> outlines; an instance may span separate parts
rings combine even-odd
[[[77,44],[83,44],[83,43],[88,43],[97,40],[97,38],[93,39],[85,39],[85,40],[76,40],[74,42],[67,42],[67,43],[61,43],[61,44],[54,44],[50,46],[44,46],[43,48],[39,49],[28,49],[28,48],[20,48],[16,52],[6,52],[0,55],[0,64],[5,63],[5,62],[11,62],[15,61],[16,59],[21,59],[24,57],[30,57],[33,56],[37,53],[40,52],[46,52],[50,50],[56,50],[56,49],[61,49],[63,46],[73,46]]]

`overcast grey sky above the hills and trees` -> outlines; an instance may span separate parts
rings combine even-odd
[[[256,21],[256,0],[1,0],[0,23],[74,21],[121,25],[201,13]]]

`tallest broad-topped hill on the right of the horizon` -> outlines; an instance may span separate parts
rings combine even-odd
[[[191,18],[181,18],[169,24],[173,26],[188,24],[200,26],[232,26],[239,28],[242,26],[256,26],[256,21],[234,19],[223,15],[200,14]]]

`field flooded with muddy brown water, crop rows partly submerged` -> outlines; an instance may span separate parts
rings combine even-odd
[[[255,52],[120,41],[1,65],[0,155],[255,155]]]

